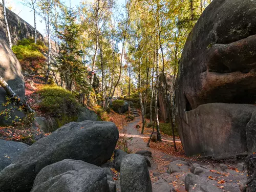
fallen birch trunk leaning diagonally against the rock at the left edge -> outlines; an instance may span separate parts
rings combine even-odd
[[[29,113],[33,113],[34,111],[30,108],[29,104],[23,99],[20,98],[8,85],[8,83],[3,79],[3,77],[0,76],[0,86],[4,88],[7,95],[9,95],[11,98],[15,99],[15,102],[18,103],[18,105],[24,106],[26,111]]]

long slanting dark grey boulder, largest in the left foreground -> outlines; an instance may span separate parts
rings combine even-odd
[[[64,160],[101,165],[115,149],[119,133],[112,122],[71,122],[28,148],[15,163],[0,172],[2,191],[29,191],[40,170]]]

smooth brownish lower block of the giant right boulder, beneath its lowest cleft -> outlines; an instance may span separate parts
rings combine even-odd
[[[246,125],[254,111],[250,104],[209,103],[185,112],[179,134],[186,155],[246,152]]]

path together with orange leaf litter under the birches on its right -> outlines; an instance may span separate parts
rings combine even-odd
[[[116,119],[116,118],[115,118]],[[145,134],[140,134],[140,130],[136,129],[136,125],[141,125],[141,119],[135,118],[134,121],[130,123],[122,124],[123,129],[120,132],[120,137],[122,138],[132,138],[129,140],[127,147],[131,153],[135,153],[140,150],[148,150],[152,152],[150,177],[153,184],[153,192],[161,192],[156,187],[156,183],[159,179],[164,179],[169,185],[175,187],[177,192],[185,192],[184,179],[185,176],[190,173],[190,169],[186,169],[179,173],[167,174],[167,168],[170,162],[175,160],[187,161],[190,165],[193,163],[198,163],[209,169],[209,172],[200,175],[202,179],[205,179],[212,185],[217,186],[224,192],[238,192],[239,183],[246,177],[246,173],[239,172],[237,169],[237,164],[231,161],[224,161],[228,166],[225,172],[220,170],[220,164],[223,162],[214,162],[209,160],[197,160],[197,157],[186,157],[182,149],[181,141],[177,138],[176,145],[178,152],[175,152],[173,146],[172,136],[162,135],[162,142],[152,142],[150,147],[146,146],[149,138],[149,134],[152,129],[145,130]],[[118,125],[117,125],[118,126]],[[120,130],[119,130],[120,131]],[[117,188],[118,188],[117,184]]]

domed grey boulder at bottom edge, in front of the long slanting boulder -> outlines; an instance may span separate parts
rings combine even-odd
[[[79,160],[65,159],[41,169],[31,192],[110,192],[104,170]]]

